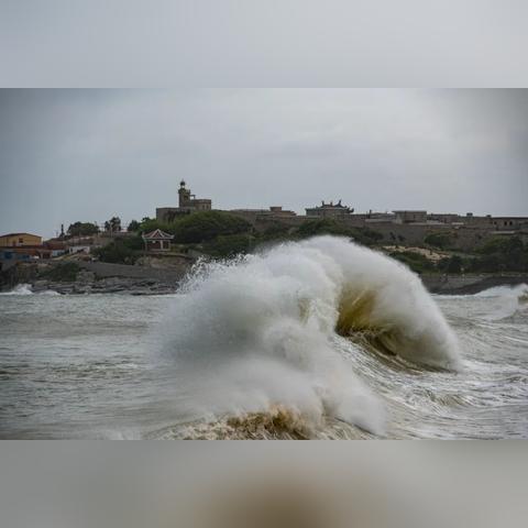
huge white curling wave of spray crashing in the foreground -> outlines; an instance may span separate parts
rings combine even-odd
[[[457,339],[417,276],[345,239],[319,237],[202,265],[169,314],[164,350],[204,416],[292,409],[381,433],[384,409],[332,345],[370,332],[385,352],[457,369]],[[286,415],[284,415],[286,416]]]

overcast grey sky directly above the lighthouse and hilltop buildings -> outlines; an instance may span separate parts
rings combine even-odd
[[[528,90],[1,90],[0,231],[321,199],[528,216]]]

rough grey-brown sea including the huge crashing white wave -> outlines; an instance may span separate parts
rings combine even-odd
[[[1,438],[528,438],[528,286],[323,237],[169,296],[0,295]]]

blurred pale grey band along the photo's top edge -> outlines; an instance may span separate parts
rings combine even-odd
[[[524,0],[2,0],[2,86],[527,86]]]

